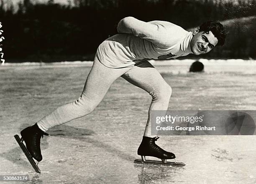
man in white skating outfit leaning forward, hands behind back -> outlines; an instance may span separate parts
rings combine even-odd
[[[223,25],[216,21],[203,23],[193,32],[165,21],[143,22],[126,17],[118,23],[118,33],[103,41],[97,49],[92,69],[82,95],[74,102],[56,108],[52,113],[20,132],[30,154],[42,160],[40,139],[54,126],[91,113],[102,101],[110,85],[120,76],[152,96],[148,120],[138,155],[174,159],[175,155],[155,144],[151,135],[151,111],[167,110],[172,88],[146,58],[170,59],[193,53],[210,52],[225,42]],[[99,88],[100,87],[100,88]]]

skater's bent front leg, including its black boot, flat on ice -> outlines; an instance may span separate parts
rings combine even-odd
[[[162,110],[162,116],[165,115],[172,88],[148,61],[138,63],[138,65],[127,71],[122,77],[133,85],[144,89],[152,96],[151,105],[148,110],[146,129],[141,145],[138,148],[138,155],[141,155],[142,160],[145,160],[145,156],[154,156],[162,159],[163,163],[166,162],[166,159],[174,159],[175,155],[157,146],[155,141],[158,138],[152,138],[151,136],[151,111]]]

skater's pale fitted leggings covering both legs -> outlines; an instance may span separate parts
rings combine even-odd
[[[142,88],[152,96],[144,136],[151,134],[151,110],[167,110],[172,88],[147,60],[128,68],[108,68],[95,57],[81,96],[74,102],[59,106],[37,122],[40,129],[48,129],[91,113],[102,101],[111,84],[119,77]]]

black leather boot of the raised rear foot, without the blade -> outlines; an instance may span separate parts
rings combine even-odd
[[[37,161],[41,161],[43,157],[41,155],[40,139],[44,135],[48,136],[49,134],[39,129],[37,124],[34,124],[33,126],[28,126],[26,129],[22,130],[20,135],[21,140],[23,139],[25,141],[31,156]]]

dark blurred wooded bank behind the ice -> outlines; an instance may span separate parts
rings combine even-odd
[[[5,62],[93,60],[126,16],[186,30],[220,20],[229,33],[223,47],[179,59],[256,58],[256,0],[0,0]]]

